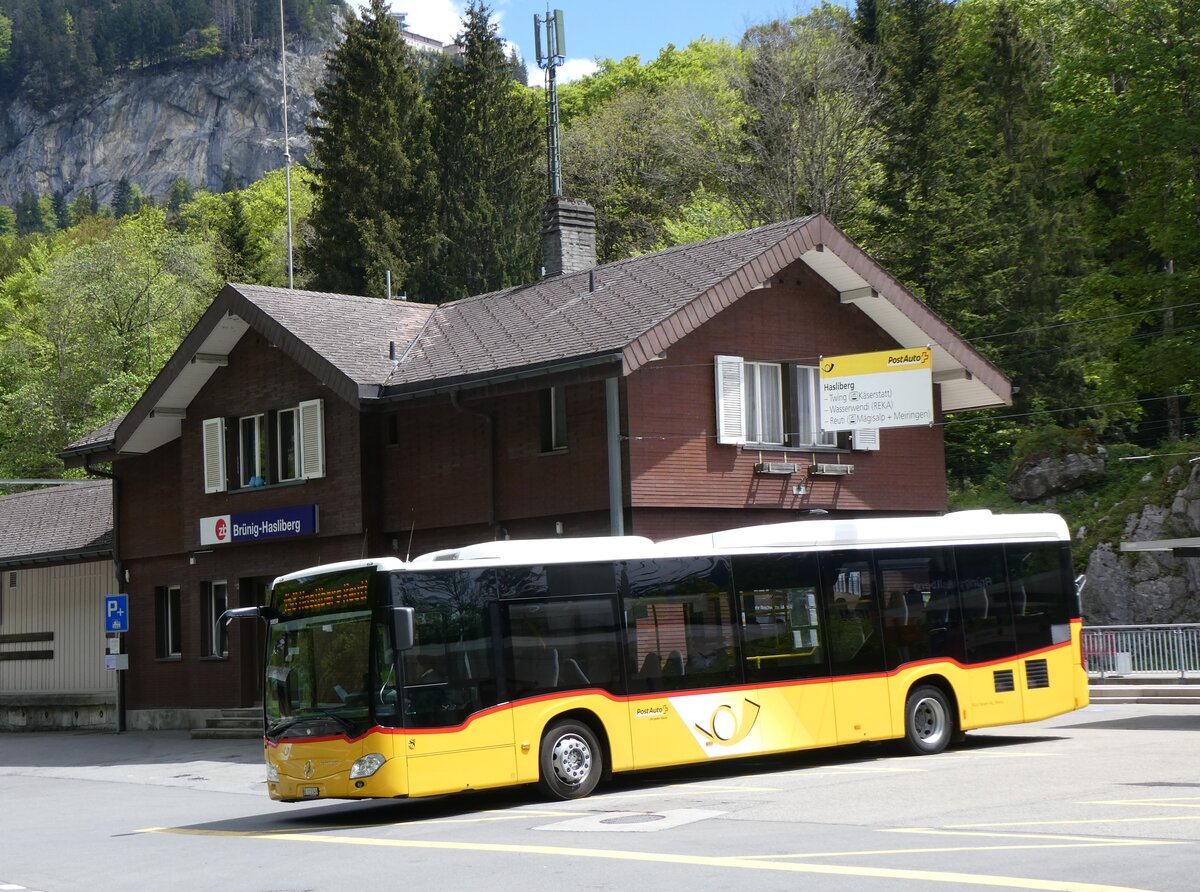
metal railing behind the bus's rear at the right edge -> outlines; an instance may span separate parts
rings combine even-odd
[[[1088,675],[1139,675],[1200,680],[1200,623],[1087,625],[1084,666]]]

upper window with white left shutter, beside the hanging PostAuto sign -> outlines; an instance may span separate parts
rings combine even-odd
[[[821,430],[821,376],[796,363],[716,358],[718,443],[836,447]]]

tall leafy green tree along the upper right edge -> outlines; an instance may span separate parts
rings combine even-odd
[[[1147,400],[1138,414],[1152,412],[1156,426],[1139,438],[1177,439],[1200,389],[1200,10],[1096,0],[1054,12],[1070,48],[1052,80],[1055,125],[1070,137],[1069,168],[1086,179],[1103,261],[1068,312],[1102,319],[1086,372],[1103,377],[1106,396]],[[1135,420],[1124,419],[1127,431]]]

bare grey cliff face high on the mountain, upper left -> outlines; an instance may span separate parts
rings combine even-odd
[[[288,132],[294,161],[308,149],[305,125],[324,74],[328,44],[288,47]],[[22,100],[0,104],[0,204],[29,190],[94,190],[107,203],[128,178],[163,197],[172,182],[218,190],[226,169],[241,182],[283,166],[278,52],[217,62],[176,62],[98,84],[48,112]]]

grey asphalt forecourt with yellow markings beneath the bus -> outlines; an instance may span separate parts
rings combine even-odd
[[[530,790],[281,804],[253,742],[0,735],[0,890],[1200,888],[1200,708]]]

